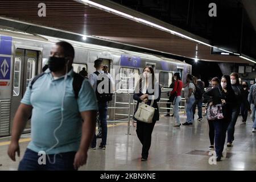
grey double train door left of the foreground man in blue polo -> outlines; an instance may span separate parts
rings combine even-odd
[[[20,100],[24,96],[28,83],[38,73],[39,51],[27,49],[16,49],[14,57],[13,71],[13,97],[11,101],[11,127],[16,110],[19,107]],[[31,123],[27,122],[25,132],[30,131]]]

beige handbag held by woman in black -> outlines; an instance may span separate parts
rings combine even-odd
[[[152,118],[154,117],[155,107],[152,107],[154,103],[154,96],[151,100],[150,106],[145,104],[144,102],[140,102],[138,106],[138,110],[134,114],[134,118],[138,119],[138,121],[142,121],[145,123],[152,123]]]

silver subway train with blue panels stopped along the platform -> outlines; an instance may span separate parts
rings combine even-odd
[[[35,75],[42,72],[51,47],[61,40],[64,39],[0,29],[0,137],[11,134],[14,114],[28,83]],[[85,67],[88,74],[93,73],[96,59],[102,59],[104,64],[110,68],[109,72],[115,80],[116,94],[109,103],[109,121],[117,121],[126,117],[127,106],[131,107],[129,103],[133,102],[132,93],[135,85],[129,82],[130,76],[135,73],[141,74],[146,65],[154,68],[156,78],[163,90],[171,84],[172,75],[175,72],[179,72],[182,80],[185,81],[185,76],[191,73],[192,69],[192,66],[187,63],[158,55],[71,40],[65,41],[75,48],[74,71],[80,72]],[[162,94],[162,98],[167,98],[167,94]],[[114,106],[118,109],[113,109]],[[130,114],[133,114],[132,108]],[[24,130],[24,133],[29,132],[30,121],[27,122]]]

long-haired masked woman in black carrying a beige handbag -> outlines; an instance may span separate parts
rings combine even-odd
[[[142,122],[133,117],[133,119],[137,121],[136,133],[142,143],[142,161],[146,161],[148,159],[148,151],[151,146],[151,134],[156,121],[159,120],[159,108],[157,102],[160,100],[160,97],[161,89],[159,82],[155,79],[154,69],[147,66],[143,69],[143,76],[139,79],[133,95],[133,99],[137,101],[134,115],[138,110],[139,103],[141,102],[150,105],[152,101],[152,107],[155,108],[152,123]]]

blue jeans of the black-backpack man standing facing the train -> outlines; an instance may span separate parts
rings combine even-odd
[[[108,102],[98,102],[98,113],[100,114],[100,122],[101,122],[101,145],[106,145],[106,138],[108,135],[108,125],[106,121],[106,117],[108,115]],[[94,134],[92,143],[90,144],[91,147],[96,147],[96,134]]]

